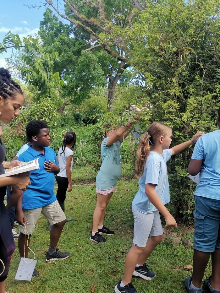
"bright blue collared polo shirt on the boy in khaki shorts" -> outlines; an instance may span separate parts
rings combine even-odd
[[[22,153],[19,157],[19,161],[29,162],[31,160],[39,158],[39,167],[31,171],[30,182],[31,184],[24,191],[22,209],[36,209],[44,207],[57,200],[54,194],[55,178],[53,172],[47,172],[44,168],[44,162],[51,160],[58,165],[57,156],[53,149],[49,147],[44,148],[44,154],[37,152],[35,149],[29,148]]]

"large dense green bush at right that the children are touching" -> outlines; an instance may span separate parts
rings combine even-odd
[[[196,131],[216,128],[219,107],[219,3],[166,0],[147,3],[133,23],[127,41],[131,64],[145,76],[148,121],[173,128],[173,143]],[[144,125],[144,124],[143,124]],[[170,189],[176,217],[192,219],[193,191],[187,165],[192,148],[169,164]]]

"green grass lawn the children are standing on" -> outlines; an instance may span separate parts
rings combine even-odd
[[[49,244],[47,220],[41,215],[31,236],[30,248],[35,252],[39,277],[30,282],[14,280],[20,257],[18,248],[12,256],[6,289],[10,293],[89,293],[95,285],[95,293],[113,293],[114,286],[122,278],[124,260],[133,239],[133,214],[131,202],[138,189],[136,179],[129,179],[124,171],[118,181],[116,192],[107,211],[105,225],[115,231],[107,236],[105,244],[95,244],[89,240],[93,210],[96,205],[95,186],[76,186],[67,193],[66,215],[74,220],[64,226],[58,247],[69,251],[70,257],[53,263],[45,262],[45,252]],[[94,183],[91,167],[75,167],[72,179],[74,184]],[[174,230],[169,229],[174,232]],[[192,240],[192,229],[180,226],[175,231],[181,237]],[[15,240],[16,241],[16,240]],[[174,247],[168,240],[163,241],[147,261],[157,278],[146,281],[133,277],[133,284],[139,293],[181,293],[186,292],[183,281],[191,274],[184,271],[192,264],[193,249],[181,243]],[[29,253],[32,258],[32,252]],[[210,275],[210,263],[206,276]]]

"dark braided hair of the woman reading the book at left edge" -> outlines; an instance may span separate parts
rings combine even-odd
[[[14,99],[18,93],[23,95],[19,84],[11,79],[11,74],[7,69],[0,68],[0,96],[5,100],[8,98]]]

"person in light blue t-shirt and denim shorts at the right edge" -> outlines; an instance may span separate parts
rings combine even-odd
[[[220,107],[217,124],[220,128]],[[196,143],[189,174],[200,174],[194,199],[195,219],[193,274],[185,280],[190,293],[202,292],[202,279],[212,254],[212,275],[205,279],[206,292],[220,293],[220,129],[204,134]]]

